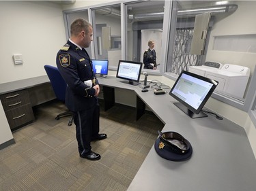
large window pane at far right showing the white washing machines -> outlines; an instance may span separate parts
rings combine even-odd
[[[173,1],[172,6],[166,72],[179,75],[197,69],[219,82],[216,97],[244,105],[255,67],[256,25],[251,23],[256,2]],[[201,65],[211,71],[195,68]],[[213,66],[226,69],[226,76],[212,74]]]

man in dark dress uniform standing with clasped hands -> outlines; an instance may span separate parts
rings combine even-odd
[[[85,50],[91,44],[93,30],[87,20],[79,18],[72,22],[70,33],[67,44],[57,53],[56,63],[68,84],[66,106],[74,113],[79,154],[81,158],[99,160],[100,154],[91,151],[91,141],[106,138],[106,134],[99,133],[100,86]]]

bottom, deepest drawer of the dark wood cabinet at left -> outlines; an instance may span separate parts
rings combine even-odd
[[[21,126],[27,122],[31,122],[35,119],[30,103],[21,107],[17,107],[16,109],[5,111],[5,115],[11,129]]]

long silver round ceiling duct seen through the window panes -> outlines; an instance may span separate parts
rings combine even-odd
[[[197,14],[203,14],[205,12],[211,12],[212,14],[235,12],[238,9],[238,5],[218,5],[213,7],[200,7],[191,10],[178,10],[177,17],[196,16]],[[128,18],[130,20],[154,20],[162,19],[164,12],[148,13],[148,14],[130,14]]]

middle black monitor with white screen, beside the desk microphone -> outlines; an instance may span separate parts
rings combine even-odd
[[[124,79],[124,81],[122,81],[124,83],[137,86],[138,84],[141,84],[139,82],[141,69],[142,63],[128,60],[119,60],[116,77]]]

